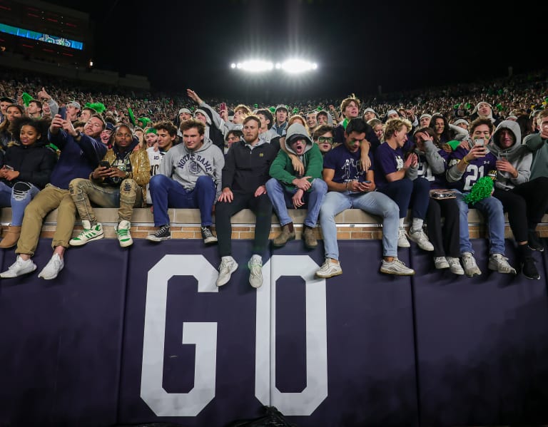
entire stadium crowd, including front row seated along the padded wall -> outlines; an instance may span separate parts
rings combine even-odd
[[[260,99],[206,103],[192,89],[113,91],[22,74],[0,72],[0,207],[12,210],[0,247],[16,246],[17,254],[2,278],[36,269],[31,258],[42,221],[54,209],[54,253],[39,277],[57,277],[68,247],[103,237],[94,206],[118,208],[121,247],[133,243],[134,207],[153,207],[158,230],[151,242],[171,237],[169,207],[199,209],[204,244],[219,248],[218,286],[238,268],[230,217],[253,210],[253,287],[263,283],[273,212],[281,225],[273,246],[295,238],[288,207],[308,210],[308,249],[318,245],[313,230],[320,223],[322,278],[342,274],[334,218],[350,208],[382,219],[382,273],[415,274],[397,257],[411,240],[432,252],[437,269],[482,274],[468,236],[475,207],[487,217],[489,269],[517,274],[504,256],[507,212],[518,269],[540,278],[532,250],[544,250],[535,228],[548,208],[546,70],[275,106]],[[83,231],[72,238],[76,215]]]

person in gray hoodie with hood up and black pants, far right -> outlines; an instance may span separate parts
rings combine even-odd
[[[532,153],[522,145],[519,125],[503,120],[494,130],[492,143],[487,148],[497,157],[497,178],[493,197],[502,202],[504,212],[517,242],[522,273],[528,279],[540,279],[534,265],[531,249],[544,249],[534,238],[537,224],[548,207],[548,178],[529,180]]]

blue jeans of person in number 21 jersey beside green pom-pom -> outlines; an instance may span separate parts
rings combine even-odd
[[[462,200],[462,192],[455,190],[457,203],[459,205],[459,241],[460,254],[465,252],[474,253],[470,234],[468,233],[468,204]],[[485,197],[476,202],[473,207],[487,218],[487,234],[489,235],[489,254],[504,254],[504,211],[502,203],[494,197]]]

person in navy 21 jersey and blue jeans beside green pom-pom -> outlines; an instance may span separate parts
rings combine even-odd
[[[482,274],[474,257],[474,249],[470,242],[468,230],[468,211],[470,206],[465,200],[472,186],[480,178],[495,175],[497,158],[489,152],[485,144],[489,141],[494,125],[489,118],[478,118],[470,124],[470,138],[467,144],[462,143],[450,154],[447,182],[455,190],[460,215],[460,256],[467,277]],[[470,149],[465,148],[468,145]],[[475,202],[475,209],[480,210],[487,218],[489,232],[489,265],[488,268],[499,273],[516,274],[506,257],[504,257],[504,210],[502,203],[489,196]]]

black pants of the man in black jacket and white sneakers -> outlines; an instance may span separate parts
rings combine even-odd
[[[255,214],[255,237],[253,254],[261,257],[268,245],[270,225],[272,225],[272,203],[268,195],[255,197],[253,193],[233,192],[232,202],[217,202],[215,205],[215,230],[217,232],[219,254],[226,257],[232,254],[232,224],[230,217],[243,209],[250,209]]]

